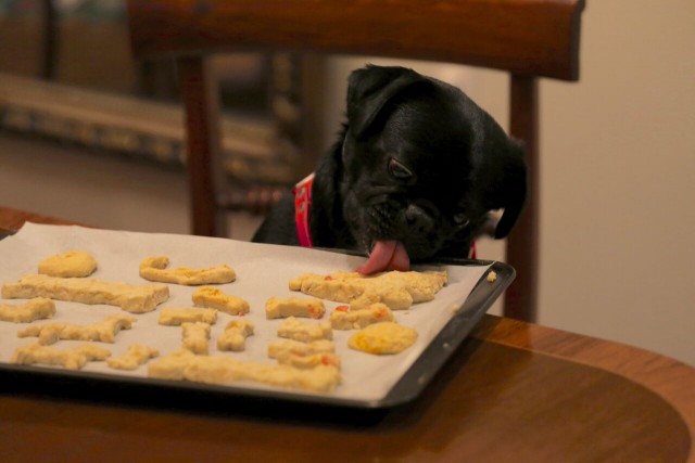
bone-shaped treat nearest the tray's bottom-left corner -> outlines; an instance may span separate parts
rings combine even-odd
[[[111,356],[109,349],[93,344],[84,344],[70,349],[56,349],[40,344],[17,347],[10,359],[11,363],[23,365],[47,364],[62,365],[68,370],[80,370],[91,361],[101,361]]]

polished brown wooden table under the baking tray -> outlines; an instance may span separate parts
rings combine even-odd
[[[65,223],[0,208],[0,228],[26,220]],[[695,369],[492,316],[383,413],[30,386],[0,385],[1,461],[695,462]]]

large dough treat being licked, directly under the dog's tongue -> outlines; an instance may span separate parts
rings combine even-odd
[[[446,271],[391,271],[370,276],[334,272],[329,275],[305,273],[291,280],[289,287],[320,299],[350,304],[355,310],[375,303],[383,303],[391,310],[405,310],[413,304],[432,300],[446,282]]]

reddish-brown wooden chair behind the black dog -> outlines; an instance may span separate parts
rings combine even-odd
[[[583,0],[129,0],[136,57],[175,56],[187,114],[192,231],[224,235],[218,102],[207,57],[299,51],[430,60],[510,75],[510,133],[523,140],[530,201],[507,241],[517,278],[505,316],[535,319],[539,78],[577,80]]]

